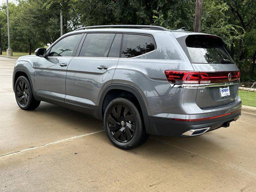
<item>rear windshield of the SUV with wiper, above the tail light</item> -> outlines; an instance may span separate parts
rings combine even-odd
[[[186,46],[192,63],[233,63],[222,40],[209,35],[190,35]]]

